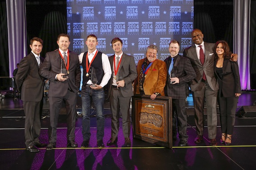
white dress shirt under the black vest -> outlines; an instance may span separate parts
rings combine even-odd
[[[89,51],[88,51],[88,60],[89,60],[89,63],[92,61],[95,53],[96,53],[97,49],[95,51],[93,51],[92,53],[90,53],[89,55]],[[79,57],[79,63],[81,64],[82,61],[83,61],[83,56],[84,56],[84,52],[82,52],[78,57]],[[102,69],[104,71],[104,76],[102,78],[102,82],[100,83],[100,86],[104,87],[110,77],[111,77],[111,66],[110,66],[110,63],[109,63],[109,59],[108,59],[108,56],[104,53],[102,53]],[[91,80],[88,80],[86,84],[93,84],[93,82]]]

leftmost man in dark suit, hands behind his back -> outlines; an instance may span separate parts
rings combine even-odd
[[[30,40],[31,53],[24,57],[15,75],[17,89],[21,91],[21,99],[25,112],[25,144],[26,150],[39,152],[37,147],[46,146],[39,141],[41,122],[40,104],[44,93],[44,81],[39,75],[40,52],[43,40],[34,37]]]

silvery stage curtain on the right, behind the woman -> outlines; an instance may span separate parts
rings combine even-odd
[[[250,85],[250,8],[251,0],[234,0],[234,53],[238,65],[242,89]]]

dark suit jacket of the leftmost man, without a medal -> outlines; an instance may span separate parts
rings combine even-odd
[[[43,98],[44,81],[38,72],[38,63],[31,52],[20,61],[18,72],[15,75],[22,101],[40,102]]]

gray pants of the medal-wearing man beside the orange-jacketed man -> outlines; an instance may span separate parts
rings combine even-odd
[[[112,88],[110,93],[111,137],[116,138],[119,131],[119,111],[122,113],[122,127],[124,137],[130,137],[130,102],[131,97],[123,97],[120,89]]]

